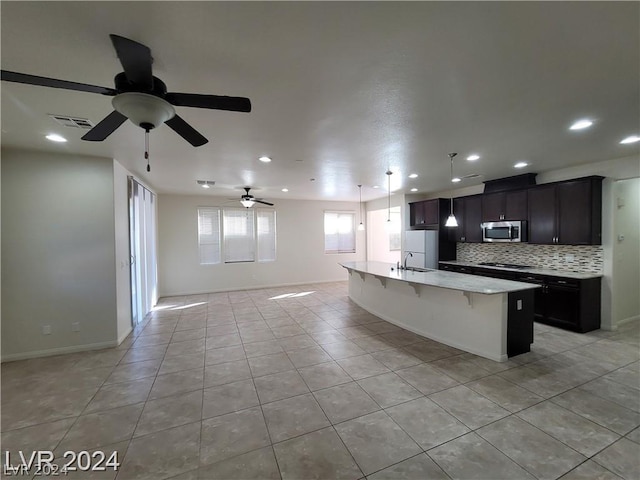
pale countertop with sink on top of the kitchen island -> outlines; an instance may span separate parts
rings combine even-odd
[[[390,278],[418,285],[430,287],[448,288],[472,293],[493,295],[497,293],[517,292],[531,288],[540,288],[533,283],[514,282],[499,278],[467,275],[465,273],[446,272],[443,270],[431,270],[428,272],[413,272],[410,270],[397,270],[393,263],[386,262],[344,262],[341,263],[347,270],[368,273],[376,277]]]

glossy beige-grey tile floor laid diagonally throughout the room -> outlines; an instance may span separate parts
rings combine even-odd
[[[639,327],[536,324],[496,363],[346,283],[163,298],[118,348],[3,364],[2,450],[119,453],[70,478],[638,479]]]

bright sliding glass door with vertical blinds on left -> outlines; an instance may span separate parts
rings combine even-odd
[[[156,273],[156,196],[129,177],[131,319],[142,321],[158,301]]]

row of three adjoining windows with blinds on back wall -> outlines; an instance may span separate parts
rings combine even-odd
[[[198,208],[200,265],[272,262],[276,212],[255,208]]]

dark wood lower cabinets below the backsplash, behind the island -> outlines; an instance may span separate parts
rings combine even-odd
[[[600,328],[600,277],[575,279],[446,263],[440,269],[535,283],[540,285],[533,291],[535,321],[579,333]]]

